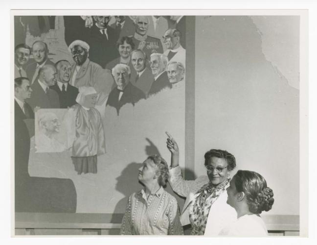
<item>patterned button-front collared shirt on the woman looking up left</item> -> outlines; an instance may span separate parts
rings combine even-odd
[[[179,207],[163,187],[146,197],[144,190],[132,194],[121,224],[121,235],[183,235]]]

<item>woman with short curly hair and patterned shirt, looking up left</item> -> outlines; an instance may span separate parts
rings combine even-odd
[[[177,200],[163,189],[169,177],[166,161],[149,156],[137,177],[144,189],[129,197],[120,234],[183,235]]]

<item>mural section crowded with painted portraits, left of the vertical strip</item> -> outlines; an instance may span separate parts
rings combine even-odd
[[[184,149],[185,16],[14,20],[15,78],[26,84],[25,104],[35,113],[15,122],[28,131],[16,155],[29,144],[23,161],[16,158],[16,173],[23,165],[27,178],[53,179],[51,196],[64,200],[62,212],[123,213],[128,196],[142,188],[139,164],[150,154],[168,159],[164,132],[172,131]],[[180,158],[184,166],[184,151]],[[19,191],[23,178],[15,182],[16,211],[59,212],[33,194],[41,184]],[[30,208],[23,208],[25,195],[33,197]]]

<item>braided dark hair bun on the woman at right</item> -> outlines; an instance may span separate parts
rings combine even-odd
[[[256,197],[252,209],[254,209],[252,213],[261,214],[262,211],[269,211],[272,209],[272,205],[274,203],[273,191],[271,188],[267,187],[262,190],[258,196]]]

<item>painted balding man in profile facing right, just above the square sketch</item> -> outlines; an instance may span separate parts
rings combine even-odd
[[[60,108],[58,94],[49,88],[49,86],[56,83],[56,74],[56,68],[52,65],[44,65],[39,70],[39,79],[31,85],[32,96],[26,100],[33,109],[36,106],[40,108]]]

